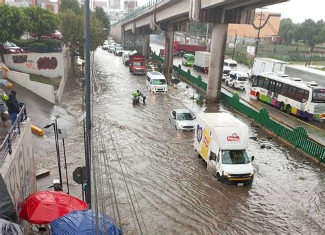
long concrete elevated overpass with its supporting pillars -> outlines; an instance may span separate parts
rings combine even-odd
[[[164,73],[173,68],[174,32],[189,31],[190,22],[213,23],[208,100],[217,101],[224,68],[224,51],[229,23],[250,24],[255,9],[288,0],[150,0],[115,24],[110,35],[129,49],[141,49],[149,56],[149,35],[165,34]]]

